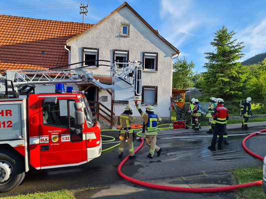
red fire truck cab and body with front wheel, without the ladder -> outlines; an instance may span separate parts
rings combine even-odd
[[[100,124],[82,94],[31,94],[0,100],[0,192],[30,167],[76,166],[101,155]]]

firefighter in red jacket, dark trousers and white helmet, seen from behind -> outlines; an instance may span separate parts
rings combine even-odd
[[[227,120],[229,118],[228,110],[223,106],[224,100],[221,98],[216,98],[215,101],[218,103],[218,105],[214,108],[213,140],[211,146],[208,146],[208,149],[211,150],[215,150],[217,135],[220,137],[218,149],[222,149],[225,125],[227,124]]]

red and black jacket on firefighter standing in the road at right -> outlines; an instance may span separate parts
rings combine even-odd
[[[222,104],[218,104],[214,109],[213,124],[224,126],[227,124],[229,118],[228,109]]]

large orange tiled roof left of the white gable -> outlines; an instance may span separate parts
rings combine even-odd
[[[68,64],[64,43],[93,24],[0,15],[0,71]]]

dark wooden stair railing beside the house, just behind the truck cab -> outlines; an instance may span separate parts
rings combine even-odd
[[[107,108],[105,105],[103,105],[101,102],[99,101],[88,101],[89,103],[96,103],[96,106],[90,106],[91,110],[96,110],[96,111],[92,111],[92,114],[97,115],[97,120],[99,121],[99,118],[103,118],[105,119],[107,122],[110,123],[110,128],[113,127],[113,125],[115,125],[114,123],[114,111],[113,111],[113,107],[114,107],[114,102],[113,100],[111,101],[111,110],[109,108]],[[103,114],[104,113],[104,114]]]

